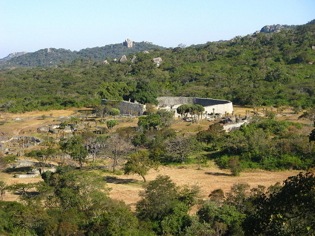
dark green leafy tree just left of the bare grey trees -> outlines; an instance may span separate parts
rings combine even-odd
[[[80,169],[82,169],[83,162],[88,155],[88,151],[83,145],[82,136],[74,135],[69,139],[62,140],[59,144],[61,149],[66,151],[72,159],[77,159],[79,161]]]

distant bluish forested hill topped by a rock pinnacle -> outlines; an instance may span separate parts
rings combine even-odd
[[[162,50],[165,48],[149,42],[133,42],[133,46],[129,48],[124,46],[122,43],[118,43],[103,47],[86,48],[73,52],[63,48],[46,48],[8,60],[0,59],[0,68],[52,66],[60,63],[70,63],[72,60],[77,58],[90,60],[120,59],[123,55],[142,52],[145,50],[150,51],[152,49]]]

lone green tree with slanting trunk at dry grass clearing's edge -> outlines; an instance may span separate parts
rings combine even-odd
[[[137,154],[130,156],[125,164],[124,172],[125,175],[137,174],[143,178],[146,182],[145,175],[150,169],[158,169],[158,162],[149,158],[148,151],[139,151]]]

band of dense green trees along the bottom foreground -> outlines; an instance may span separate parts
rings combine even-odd
[[[0,201],[0,234],[9,236],[297,236],[315,231],[315,177],[289,177],[281,186],[234,184],[200,201],[197,186],[158,176],[143,187],[136,212],[108,197],[104,179],[59,168],[44,182],[5,186],[21,202]],[[30,188],[35,188],[36,193]],[[224,196],[224,194],[226,196]],[[195,214],[189,214],[198,205]]]

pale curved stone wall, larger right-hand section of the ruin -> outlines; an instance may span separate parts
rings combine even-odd
[[[175,110],[182,104],[199,104],[205,108],[208,114],[213,112],[225,114],[225,112],[232,114],[233,104],[231,101],[212,99],[212,98],[200,98],[200,97],[158,97],[158,109],[170,109]],[[175,114],[178,116],[179,114]]]

